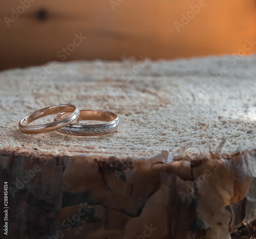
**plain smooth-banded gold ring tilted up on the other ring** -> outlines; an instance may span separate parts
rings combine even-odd
[[[31,122],[38,120],[38,118],[60,112],[66,112],[66,115],[58,121],[45,125],[28,126]],[[79,109],[75,105],[54,105],[26,115],[20,120],[18,127],[19,130],[25,134],[47,133],[75,122],[78,119],[79,114]]]

